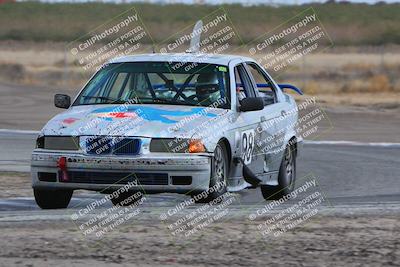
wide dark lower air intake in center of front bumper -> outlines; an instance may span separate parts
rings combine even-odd
[[[64,183],[87,184],[127,184],[135,180],[139,185],[168,185],[167,173],[130,173],[130,172],[68,172],[68,181]]]

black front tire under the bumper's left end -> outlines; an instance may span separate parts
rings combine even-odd
[[[41,209],[65,209],[68,207],[73,190],[33,189],[36,204]]]

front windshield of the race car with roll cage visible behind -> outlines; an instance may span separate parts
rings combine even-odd
[[[176,62],[108,64],[74,105],[167,104],[230,107],[229,73],[222,65]]]

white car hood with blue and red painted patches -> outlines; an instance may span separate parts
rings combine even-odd
[[[41,134],[190,138],[196,129],[230,112],[180,105],[81,105],[52,118]]]

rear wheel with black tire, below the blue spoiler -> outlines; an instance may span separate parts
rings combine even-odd
[[[296,182],[296,150],[287,146],[279,167],[278,185],[261,185],[261,193],[265,200],[279,199],[290,194]]]

